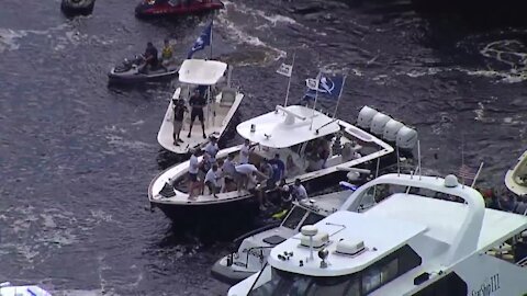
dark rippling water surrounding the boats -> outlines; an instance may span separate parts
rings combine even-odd
[[[66,295],[228,288],[209,276],[228,239],[205,243],[145,210],[173,87],[108,88],[105,77],[150,39],[176,38],[183,57],[206,16],[144,22],[134,5],[98,1],[68,20],[58,0],[2,1],[0,281]],[[277,59],[296,48],[292,98],[318,67],[348,71],[341,117],[374,106],[418,129],[424,166],[452,172],[463,146],[468,164],[485,163],[482,183],[502,184],[527,143],[526,36],[423,18],[404,1],[238,1],[216,15],[213,49],[236,66],[242,119],[283,101]]]

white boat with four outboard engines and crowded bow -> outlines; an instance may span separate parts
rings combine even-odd
[[[369,124],[371,133],[379,136],[302,105],[278,105],[269,113],[240,123],[236,130],[244,139],[258,144],[249,157],[249,162],[256,167],[262,159],[272,159],[278,155],[285,164],[287,184],[300,179],[307,186],[316,182],[329,186],[343,180],[349,168],[374,169],[382,160],[395,163],[394,147],[381,137],[396,143],[401,149],[411,150],[417,143],[417,132],[399,122],[391,125],[395,121],[371,107],[365,106],[358,121],[362,125]],[[317,148],[322,146],[329,150],[326,159],[317,157]],[[220,150],[216,159],[225,159],[233,153],[236,162],[240,148],[235,146]],[[202,194],[189,198],[188,170],[189,161],[184,161],[154,178],[148,187],[150,205],[171,216],[170,212],[178,207],[197,208],[253,196],[246,189],[238,189],[214,197],[205,189]]]

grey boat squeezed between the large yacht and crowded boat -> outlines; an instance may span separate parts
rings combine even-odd
[[[213,277],[234,285],[260,271],[274,246],[298,234],[302,226],[315,224],[335,213],[356,189],[347,182],[340,184],[346,190],[313,196],[305,202],[294,201],[293,207],[278,226],[270,224],[237,238],[237,250],[221,258],[212,266]],[[355,207],[357,212],[362,212],[374,204],[374,198],[365,198],[357,201]]]

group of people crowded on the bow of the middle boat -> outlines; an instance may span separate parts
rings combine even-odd
[[[270,200],[287,207],[293,200],[307,198],[307,192],[300,179],[296,179],[291,186],[287,185],[288,166],[280,155],[276,153],[271,159],[262,158],[254,152],[256,146],[258,144],[246,139],[237,161],[235,161],[235,153],[228,155],[226,159],[216,159],[220,148],[214,137],[211,137],[201,150],[195,149],[189,161],[189,198],[193,200],[198,194],[203,194],[205,187],[216,198],[218,193],[232,191],[239,193],[245,190],[257,197],[261,210],[271,205]],[[199,161],[200,155],[203,155],[201,161]],[[288,162],[291,160],[288,157]],[[202,175],[202,180],[199,174]],[[268,194],[269,192],[272,194]]]

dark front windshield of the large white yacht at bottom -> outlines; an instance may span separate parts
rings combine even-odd
[[[284,272],[271,267],[269,264],[260,275],[271,273],[271,280],[265,282],[266,276],[259,276],[248,295],[250,296],[359,296],[360,285],[358,276],[309,276]],[[261,278],[260,278],[261,277]],[[259,283],[260,282],[260,283]]]

